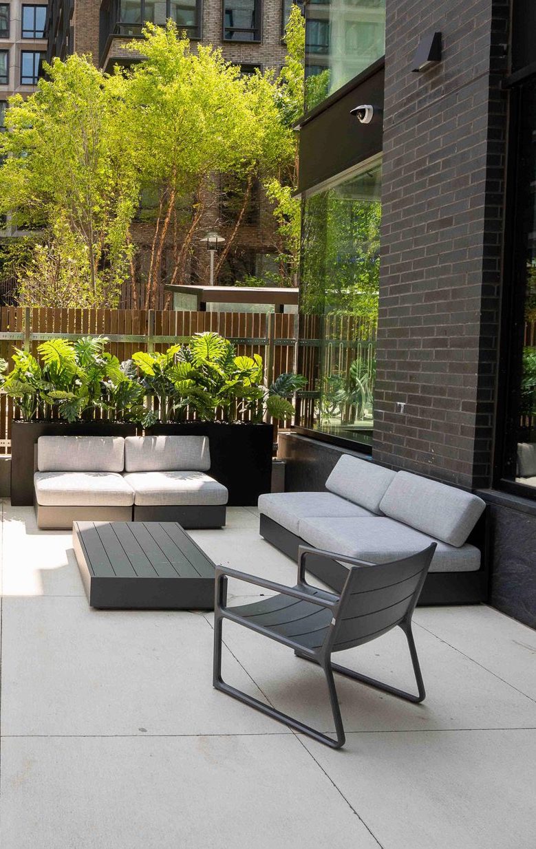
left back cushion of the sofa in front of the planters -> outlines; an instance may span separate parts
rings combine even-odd
[[[122,436],[40,436],[37,440],[40,472],[122,472],[124,468]]]

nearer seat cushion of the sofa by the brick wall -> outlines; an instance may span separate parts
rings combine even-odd
[[[370,560],[371,563],[387,563],[407,557],[422,551],[430,543],[437,543],[430,571],[471,572],[480,567],[480,552],[473,545],[455,548],[383,516],[374,519],[302,519],[298,531],[298,536],[315,548]]]

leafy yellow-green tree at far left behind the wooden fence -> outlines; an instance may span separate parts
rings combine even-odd
[[[0,138],[0,213],[13,222],[44,227],[35,263],[43,279],[57,279],[71,259],[72,299],[84,282],[82,301],[116,305],[132,251],[128,230],[137,206],[138,184],[125,147],[125,78],[107,77],[87,57],[54,59],[47,78],[26,100],[10,98],[9,132]],[[66,253],[67,252],[67,253]],[[68,256],[71,252],[71,256]],[[53,297],[50,292],[45,295]],[[32,301],[29,285],[25,296]],[[41,301],[39,301],[41,302]]]

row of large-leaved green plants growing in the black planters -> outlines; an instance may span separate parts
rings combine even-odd
[[[52,339],[38,346],[38,359],[15,350],[14,368],[0,361],[0,388],[14,398],[25,420],[46,405],[69,422],[96,409],[113,420],[149,427],[195,414],[201,421],[290,419],[290,398],[305,384],[296,374],[282,374],[267,389],[262,357],[237,357],[229,340],[198,333],[187,345],[166,351],[138,351],[119,363],[104,348],[104,336],[71,342]]]

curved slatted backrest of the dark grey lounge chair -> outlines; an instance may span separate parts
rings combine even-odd
[[[341,592],[331,651],[368,643],[413,613],[436,543],[392,563],[352,566]]]

